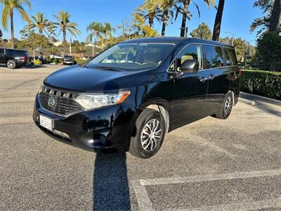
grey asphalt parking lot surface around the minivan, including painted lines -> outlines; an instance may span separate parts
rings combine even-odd
[[[32,122],[58,66],[0,66],[0,210],[281,210],[281,106],[240,101],[166,135],[148,160],[55,141]]]

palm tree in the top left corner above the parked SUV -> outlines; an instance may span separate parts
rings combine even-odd
[[[31,4],[29,0],[1,0],[1,4],[3,4],[3,11],[1,16],[1,23],[4,27],[4,30],[8,29],[8,19],[10,18],[11,22],[11,47],[15,48],[15,38],[14,38],[14,30],[13,30],[13,15],[14,11],[18,11],[22,16],[22,19],[25,21],[30,21],[27,13],[25,12],[25,8],[23,8],[22,4],[27,4],[29,8],[31,8]]]

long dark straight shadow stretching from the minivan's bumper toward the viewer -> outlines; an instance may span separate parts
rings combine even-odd
[[[93,172],[93,210],[130,210],[125,153],[97,153]]]

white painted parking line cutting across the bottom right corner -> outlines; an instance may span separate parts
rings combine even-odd
[[[281,207],[281,197],[268,199],[268,200],[251,201],[246,203],[233,203],[228,205],[215,205],[215,206],[199,207],[195,209],[184,209],[180,211],[226,211],[226,210],[246,211],[246,210],[266,209],[272,207]]]

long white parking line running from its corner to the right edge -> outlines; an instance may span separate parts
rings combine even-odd
[[[255,171],[255,172],[235,172],[226,174],[207,174],[198,175],[192,177],[172,177],[172,178],[159,178],[159,179],[141,179],[141,185],[161,185],[161,184],[179,184],[179,183],[190,183],[195,181],[214,181],[223,179],[242,179],[249,177],[266,177],[280,175],[281,170],[265,170],[265,171]]]

